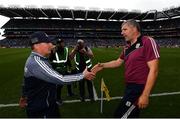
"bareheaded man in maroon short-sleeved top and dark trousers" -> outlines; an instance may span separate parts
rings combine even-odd
[[[120,57],[92,68],[97,73],[103,68],[116,68],[125,63],[126,89],[115,117],[139,117],[139,109],[147,107],[150,92],[158,75],[159,47],[153,38],[143,36],[135,20],[122,23],[121,34],[127,45]]]

